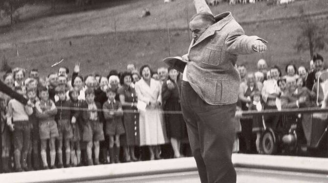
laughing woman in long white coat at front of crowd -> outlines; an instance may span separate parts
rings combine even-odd
[[[147,145],[150,151],[150,160],[160,159],[160,146],[167,142],[166,130],[162,112],[162,86],[159,81],[151,78],[150,67],[144,65],[140,69],[141,80],[136,83],[135,90],[138,101],[146,104],[141,109],[140,145]],[[155,150],[155,152],[154,152]]]

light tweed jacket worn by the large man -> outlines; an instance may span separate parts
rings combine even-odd
[[[240,76],[234,65],[238,54],[255,51],[252,44],[263,39],[246,36],[230,12],[214,17],[211,25],[189,46],[187,79],[208,104],[234,104],[238,99]]]

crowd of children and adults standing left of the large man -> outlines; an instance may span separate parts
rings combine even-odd
[[[1,172],[191,156],[175,69],[82,76],[76,63],[71,75],[11,69],[3,82],[28,103],[0,93]]]

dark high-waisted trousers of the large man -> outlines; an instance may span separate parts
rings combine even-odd
[[[183,81],[181,108],[201,182],[235,183],[231,156],[236,104],[209,105]]]

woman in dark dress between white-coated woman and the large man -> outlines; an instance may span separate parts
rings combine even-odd
[[[179,72],[176,69],[168,69],[168,79],[162,86],[162,99],[164,111],[181,111],[180,106],[180,86]],[[166,114],[165,122],[167,136],[170,138],[171,145],[174,151],[174,158],[181,157],[180,144],[181,140],[187,137],[187,127],[182,114]]]

